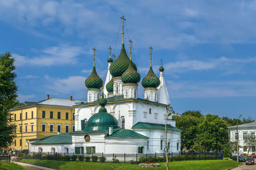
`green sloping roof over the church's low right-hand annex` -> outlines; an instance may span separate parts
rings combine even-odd
[[[138,122],[137,124],[132,126],[132,129],[159,129],[164,130],[165,125],[164,124],[153,124],[153,123],[144,123],[144,122]],[[171,131],[181,131],[180,129],[173,127],[172,125],[167,124],[167,130]]]

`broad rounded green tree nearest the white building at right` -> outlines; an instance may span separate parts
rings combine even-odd
[[[206,115],[204,121],[198,125],[198,134],[193,148],[198,151],[220,151],[228,142],[228,128],[224,120],[218,115]]]

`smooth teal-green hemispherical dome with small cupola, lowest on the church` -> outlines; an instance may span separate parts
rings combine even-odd
[[[118,122],[115,117],[107,113],[107,110],[105,108],[107,101],[102,95],[99,104],[101,106],[99,113],[96,113],[92,117],[89,118],[86,127],[84,127],[84,131],[87,132],[108,132],[109,126],[113,127],[113,129],[117,129]]]

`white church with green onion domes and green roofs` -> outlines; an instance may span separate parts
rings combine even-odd
[[[170,114],[173,110],[164,82],[164,67],[161,62],[158,78],[152,69],[151,50],[150,47],[149,71],[141,81],[144,99],[140,99],[138,83],[141,77],[132,62],[131,46],[130,57],[125,52],[123,26],[122,49],[115,61],[109,52],[104,85],[95,69],[93,54],[93,70],[85,80],[88,102],[73,106],[76,131],[32,139],[29,152],[163,153],[165,124],[169,151],[180,152],[181,131],[175,127]]]

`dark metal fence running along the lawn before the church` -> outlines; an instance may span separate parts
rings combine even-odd
[[[19,155],[18,155],[19,156]],[[87,162],[131,162],[131,164],[138,164],[141,162],[165,162],[165,153],[91,153],[91,154],[75,154],[75,153],[31,153],[24,154],[22,157],[26,159],[47,159],[47,160],[73,160],[73,161],[87,161]],[[168,153],[169,161],[181,160],[209,160],[209,159],[223,159],[223,153],[218,152],[170,152]]]

